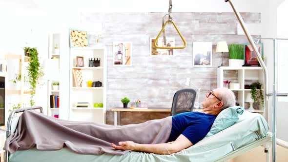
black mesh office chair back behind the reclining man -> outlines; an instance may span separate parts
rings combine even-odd
[[[177,115],[184,112],[193,111],[196,99],[196,91],[194,89],[181,89],[174,94],[171,115]]]

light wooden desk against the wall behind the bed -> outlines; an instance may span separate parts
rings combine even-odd
[[[201,111],[202,109],[193,109],[193,111]],[[148,107],[148,109],[131,109],[115,107],[111,111],[114,112],[114,125],[120,123],[120,113],[121,112],[171,112],[171,107]]]

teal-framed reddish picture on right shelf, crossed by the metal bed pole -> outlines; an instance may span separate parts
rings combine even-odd
[[[256,47],[262,57],[263,56],[263,43],[257,43]],[[246,65],[258,66],[256,53],[253,51],[253,48],[250,45],[250,43],[244,44],[244,61]]]

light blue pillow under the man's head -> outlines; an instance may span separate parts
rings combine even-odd
[[[228,107],[220,112],[216,117],[210,131],[205,138],[210,137],[229,126],[235,124],[239,120],[239,116],[244,112],[244,108],[240,106]]]

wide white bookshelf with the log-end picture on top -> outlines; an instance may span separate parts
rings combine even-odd
[[[83,67],[77,66],[77,57],[83,57]],[[89,67],[89,59],[99,58],[100,66]],[[102,47],[70,48],[69,121],[104,123],[106,112],[106,55]],[[80,69],[82,86],[77,86],[73,70]],[[101,87],[88,87],[88,81],[101,81]],[[77,107],[78,102],[88,102],[87,107]],[[103,107],[93,107],[103,103]]]

